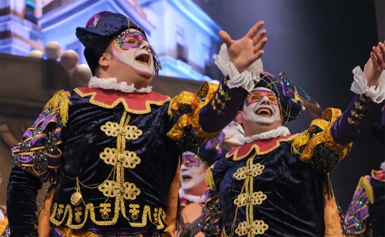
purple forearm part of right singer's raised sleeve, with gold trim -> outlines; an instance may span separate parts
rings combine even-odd
[[[355,139],[372,103],[373,101],[365,95],[356,94],[353,97],[348,108],[331,125],[331,136],[336,143],[345,145]]]

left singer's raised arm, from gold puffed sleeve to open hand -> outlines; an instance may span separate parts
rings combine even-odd
[[[256,23],[239,40],[232,40],[228,33],[219,31],[224,44],[214,59],[224,75],[223,80],[219,85],[204,83],[197,94],[182,91],[171,101],[169,114],[174,126],[167,136],[177,141],[181,151],[199,146],[234,119],[263,71],[259,59],[267,42],[266,30],[259,31],[263,24],[263,21]]]

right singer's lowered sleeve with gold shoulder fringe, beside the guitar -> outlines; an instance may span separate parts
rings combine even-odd
[[[206,171],[206,201],[199,224],[206,236],[220,236],[223,228],[221,201],[214,184],[213,168],[214,165]]]

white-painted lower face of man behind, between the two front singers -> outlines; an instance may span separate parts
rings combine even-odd
[[[193,152],[186,152],[186,155],[195,156],[196,154]],[[201,163],[198,167],[192,168],[187,166],[186,164],[181,165],[181,172],[179,174],[179,178],[181,181],[181,188],[183,190],[193,189],[199,184],[204,183],[204,179],[206,177],[206,169],[207,167]]]

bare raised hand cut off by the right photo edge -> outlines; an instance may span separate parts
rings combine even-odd
[[[385,43],[385,41],[384,41]],[[377,47],[373,46],[370,58],[366,63],[365,77],[368,86],[378,86],[380,75],[385,68],[385,45],[378,42]]]

